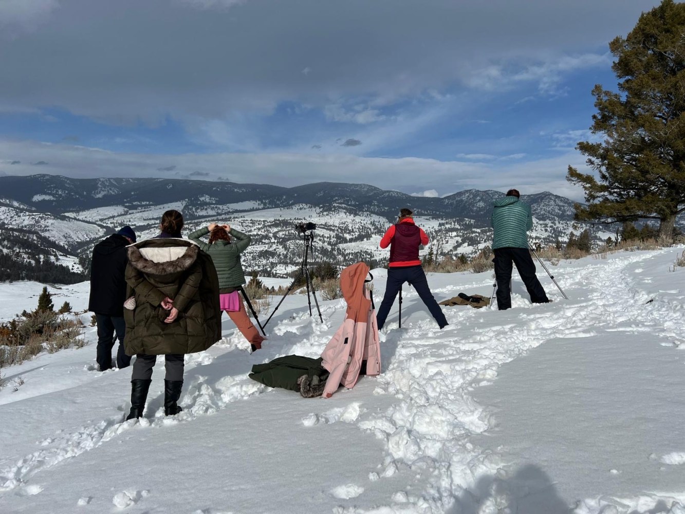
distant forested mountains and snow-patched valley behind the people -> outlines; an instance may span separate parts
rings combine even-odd
[[[285,188],[202,180],[3,176],[0,223],[5,230],[33,232],[30,239],[34,254],[36,245],[68,253],[79,258],[87,271],[90,250],[103,236],[131,225],[140,238],[151,237],[157,232],[162,212],[175,208],[186,219],[184,234],[211,221],[226,221],[247,232],[252,236],[252,245],[242,258],[246,271],[285,276],[301,260],[303,243],[295,230],[296,223],[312,221],[317,225],[312,264],[324,260],[338,265],[359,260],[371,265],[385,262],[387,252],[377,247],[378,241],[388,224],[395,222],[401,207],[414,210],[438,258],[448,254],[468,256],[492,242],[490,213],[493,200],[502,195],[499,191],[472,189],[444,198],[412,197],[366,184],[333,182]],[[577,235],[588,226],[573,221],[574,202],[568,198],[543,192],[523,195],[521,199],[532,208],[532,243],[564,243],[572,231]],[[615,237],[614,226],[588,228],[595,243]],[[9,238],[5,230],[3,237]],[[22,233],[28,232],[11,233],[14,247],[19,247],[16,237]],[[8,246],[3,243],[3,247]],[[24,262],[22,266],[31,265],[26,258],[28,250],[20,253],[24,257],[17,259]],[[58,259],[54,255],[52,258],[53,268],[64,273],[62,280],[82,280],[77,265],[66,271],[55,264]],[[51,266],[48,261],[44,264],[42,257],[40,264],[32,262],[34,269]],[[22,269],[26,278],[36,278]],[[0,280],[7,278],[2,276]]]

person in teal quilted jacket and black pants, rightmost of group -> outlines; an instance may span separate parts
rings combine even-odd
[[[497,308],[511,308],[512,264],[534,304],[549,302],[545,289],[535,275],[535,263],[528,248],[528,230],[533,228],[530,206],[519,199],[519,191],[510,189],[506,197],[495,200],[493,206],[493,252],[497,280]]]

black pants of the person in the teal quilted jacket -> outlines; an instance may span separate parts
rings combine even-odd
[[[495,251],[495,278],[497,279],[497,308],[505,310],[512,306],[511,286],[512,262],[521,275],[534,304],[549,302],[543,285],[535,275],[535,264],[527,248],[497,248]]]

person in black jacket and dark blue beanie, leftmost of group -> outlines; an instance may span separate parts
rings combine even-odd
[[[100,371],[112,367],[115,331],[116,339],[119,339],[116,367],[121,369],[131,364],[131,356],[128,356],[124,350],[126,333],[123,313],[126,300],[124,272],[128,264],[126,247],[135,242],[136,232],[126,225],[116,234],[97,243],[92,249],[88,310],[95,313],[97,322],[97,364]]]

